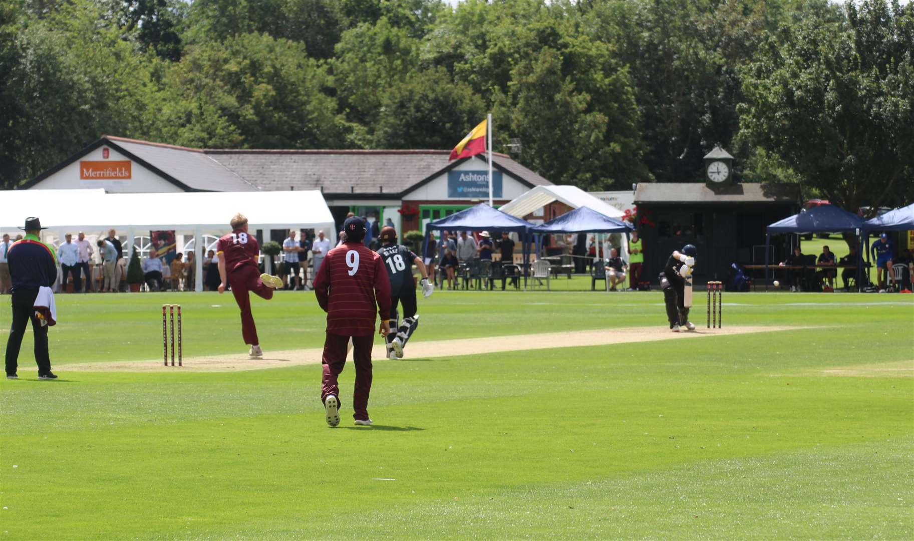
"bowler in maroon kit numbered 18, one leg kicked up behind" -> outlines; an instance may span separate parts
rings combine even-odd
[[[248,292],[254,292],[270,300],[273,297],[273,290],[282,287],[282,279],[260,274],[260,267],[257,265],[260,245],[254,236],[248,234],[248,218],[236,214],[231,218],[230,225],[231,233],[224,235],[216,243],[219,278],[222,279],[219,293],[226,291],[228,283],[232,294],[235,295],[235,302],[238,302],[241,309],[241,336],[244,337],[245,344],[250,344],[248,355],[260,357],[263,356],[263,350],[260,349],[260,340],[257,339],[254,315],[250,313]]]

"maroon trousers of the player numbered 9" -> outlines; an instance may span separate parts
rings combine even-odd
[[[355,410],[353,418],[356,420],[368,419],[368,395],[371,393],[371,347],[374,345],[373,334],[352,337],[353,361],[356,363],[356,389],[353,393],[352,408]],[[321,401],[327,395],[340,398],[340,387],[337,377],[345,366],[346,348],[349,345],[349,336],[327,333],[324,340],[324,378],[321,382]]]

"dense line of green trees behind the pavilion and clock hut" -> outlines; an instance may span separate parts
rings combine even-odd
[[[914,3],[0,0],[0,182],[102,133],[207,148],[494,147],[588,189],[914,196]],[[508,146],[518,142],[519,145]]]

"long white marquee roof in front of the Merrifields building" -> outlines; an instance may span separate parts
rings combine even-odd
[[[333,215],[320,191],[289,192],[190,192],[106,194],[103,189],[0,191],[4,204],[0,231],[18,232],[27,217],[41,218],[41,225],[58,239],[77,230],[101,232],[126,230],[128,260],[137,234],[150,229],[175,233],[221,236],[228,221],[240,212],[253,229],[324,229],[331,245],[336,231]],[[88,233],[87,233],[88,234]],[[199,251],[195,247],[195,251]],[[195,289],[203,291],[203,258],[197,257]]]

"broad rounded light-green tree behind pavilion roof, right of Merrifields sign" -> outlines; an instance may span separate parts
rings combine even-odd
[[[342,144],[330,80],[299,43],[264,34],[186,49],[167,70],[163,140],[210,148]]]

